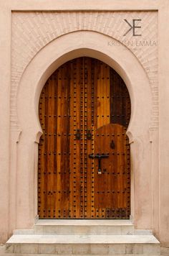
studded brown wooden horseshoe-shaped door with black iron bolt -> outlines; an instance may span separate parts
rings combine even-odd
[[[115,70],[64,63],[42,90],[39,119],[39,218],[128,219],[130,96]]]

